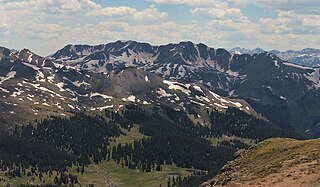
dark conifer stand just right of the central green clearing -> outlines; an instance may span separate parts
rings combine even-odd
[[[119,116],[106,113],[111,119]],[[142,116],[142,117],[141,117]],[[183,112],[171,108],[153,108],[151,112],[130,105],[123,113],[126,124],[139,124],[139,131],[149,138],[121,145],[112,150],[112,159],[130,169],[149,172],[163,164],[217,172],[233,158],[237,148],[216,146],[205,139],[209,127],[197,126]]]

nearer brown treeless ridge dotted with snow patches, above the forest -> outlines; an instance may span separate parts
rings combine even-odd
[[[127,104],[161,105],[176,111],[194,106],[216,110],[232,107],[260,116],[244,100],[222,97],[199,82],[165,80],[133,66],[98,71],[69,62],[59,64],[28,49],[10,52],[2,48],[0,54],[2,128],[47,115],[119,110]],[[195,116],[200,118],[201,113]]]

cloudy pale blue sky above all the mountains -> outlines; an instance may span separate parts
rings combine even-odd
[[[218,48],[320,48],[319,0],[0,0],[0,46],[193,41]]]

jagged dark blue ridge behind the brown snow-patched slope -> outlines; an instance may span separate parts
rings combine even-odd
[[[283,61],[273,53],[234,54],[204,44],[151,46],[135,41],[68,45],[50,57],[59,64],[107,73],[123,67],[185,83],[200,82],[220,95],[247,100],[272,123],[319,137],[319,69]],[[307,104],[306,104],[307,102]]]

